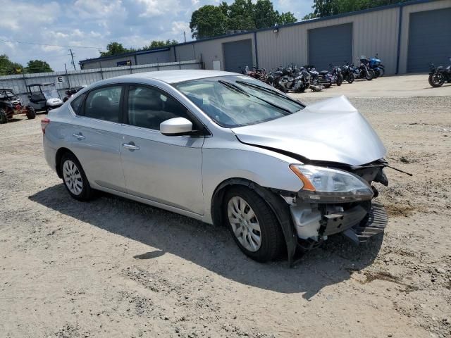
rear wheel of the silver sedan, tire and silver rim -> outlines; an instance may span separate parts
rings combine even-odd
[[[85,171],[73,154],[63,154],[61,157],[60,170],[61,175],[63,175],[64,186],[70,196],[74,199],[78,199],[78,201],[89,201],[89,199],[92,199],[92,188],[87,181]]]

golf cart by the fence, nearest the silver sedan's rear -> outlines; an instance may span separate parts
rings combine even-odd
[[[52,109],[63,105],[54,83],[28,84],[28,92],[30,93],[28,95],[30,106],[36,111],[49,113]]]

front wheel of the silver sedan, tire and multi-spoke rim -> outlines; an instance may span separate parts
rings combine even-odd
[[[254,217],[246,220],[252,211]],[[245,255],[261,263],[280,256],[284,247],[282,229],[276,215],[256,192],[246,187],[230,188],[224,196],[223,212],[230,234]]]

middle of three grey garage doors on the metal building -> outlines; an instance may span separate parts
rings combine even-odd
[[[355,61],[352,60],[352,23],[309,30],[309,65],[324,70],[329,68],[329,63],[342,65],[344,61]]]

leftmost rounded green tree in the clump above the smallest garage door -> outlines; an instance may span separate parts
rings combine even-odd
[[[223,35],[226,33],[226,26],[227,16],[219,6],[202,6],[191,15],[190,28],[195,39]]]

